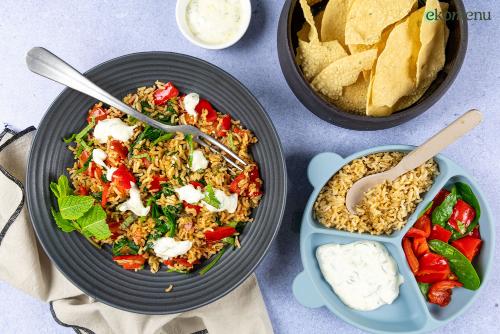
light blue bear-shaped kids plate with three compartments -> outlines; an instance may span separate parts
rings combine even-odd
[[[307,202],[302,218],[300,232],[300,253],[304,271],[293,282],[293,294],[304,306],[317,308],[326,306],[335,315],[372,333],[424,333],[445,325],[459,316],[478,297],[487,280],[493,260],[494,226],[490,208],[476,181],[453,161],[438,155],[435,161],[439,165],[440,174],[427,192],[424,200],[409,217],[408,223],[400,231],[389,236],[374,236],[361,233],[350,233],[326,228],[313,217],[313,205],[323,186],[344,165],[354,159],[379,152],[408,152],[414,147],[405,145],[380,146],[342,158],[335,153],[321,153],[309,163],[307,175],[314,191]],[[473,264],[481,278],[481,287],[476,291],[464,288],[453,289],[453,296],[447,307],[427,303],[417,285],[401,247],[405,233],[417,220],[418,214],[432,201],[440,189],[451,186],[455,182],[468,184],[481,206],[481,238],[483,240],[479,255]],[[316,249],[324,244],[346,244],[359,240],[372,240],[383,243],[398,264],[404,283],[399,288],[399,297],[390,305],[384,305],[374,311],[357,311],[347,307],[333,292],[323,278],[316,260]]]

